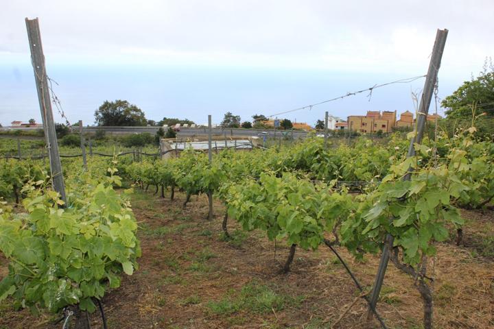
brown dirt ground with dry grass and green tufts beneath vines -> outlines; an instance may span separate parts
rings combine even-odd
[[[183,199],[181,193],[170,201],[140,190],[132,196],[143,256],[139,270],[102,301],[108,328],[380,328],[366,321],[360,291],[327,247],[297,249],[292,271],[282,274],[288,254],[283,243],[275,249],[262,232],[239,230],[233,220],[233,239],[225,241],[220,202],[214,204],[215,219],[207,221],[206,197],[192,197],[185,210]],[[436,328],[494,328],[494,215],[463,216],[464,245],[438,245],[430,264],[434,322]],[[370,289],[379,257],[357,263],[337,249]],[[0,277],[6,267],[0,258]],[[386,326],[422,328],[414,280],[390,264],[384,283],[377,309]],[[0,328],[61,328],[53,324],[57,317],[0,305]],[[91,326],[102,328],[98,312]]]

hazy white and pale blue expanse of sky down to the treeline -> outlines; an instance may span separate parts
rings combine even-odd
[[[47,74],[71,123],[106,100],[148,119],[220,123],[270,116],[427,73],[436,29],[449,29],[438,96],[494,55],[494,1],[3,0],[0,123],[40,121],[25,17],[38,17]],[[414,111],[424,79],[281,117],[314,125],[368,110]],[[434,101],[431,111],[435,111]],[[54,108],[56,121],[62,122]],[[443,114],[444,109],[438,108]]]

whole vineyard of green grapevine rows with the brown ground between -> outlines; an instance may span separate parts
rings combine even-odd
[[[67,203],[42,160],[1,160],[0,326],[494,326],[494,145],[409,145],[67,158]]]

